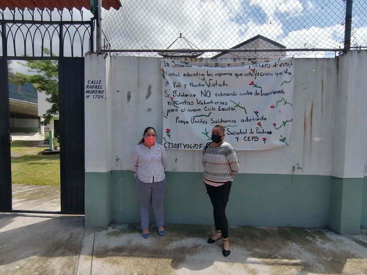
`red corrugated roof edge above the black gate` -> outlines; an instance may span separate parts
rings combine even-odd
[[[113,8],[115,10],[120,9],[121,3],[119,0],[103,0],[102,7],[106,10]],[[36,8],[40,10],[49,9],[54,10],[55,8],[58,10],[68,9],[72,10],[76,8],[81,10],[82,8],[90,9],[90,0],[2,0],[0,2],[0,9],[5,10],[9,8],[10,10],[14,10],[16,8],[24,10],[28,8],[30,10],[34,10]]]

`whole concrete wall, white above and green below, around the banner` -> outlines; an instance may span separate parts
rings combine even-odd
[[[359,230],[365,216],[366,60],[366,52],[295,59],[289,146],[237,152],[240,174],[228,207],[232,225]],[[86,81],[101,79],[105,88],[104,100],[85,101],[87,226],[105,226],[110,220],[137,222],[139,202],[129,159],[145,127],[155,127],[161,141],[160,60],[90,55],[85,62]],[[201,179],[201,152],[167,154],[166,221],[212,223]],[[109,190],[102,197],[103,209],[97,203],[101,197],[95,195],[98,188],[102,193]],[[349,226],[345,215],[353,221]]]

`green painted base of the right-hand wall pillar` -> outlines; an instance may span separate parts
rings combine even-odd
[[[339,233],[358,233],[361,226],[363,178],[332,177],[330,190],[331,230]]]

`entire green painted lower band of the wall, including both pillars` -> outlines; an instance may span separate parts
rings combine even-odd
[[[166,172],[166,223],[213,224],[202,173]],[[363,199],[364,198],[364,199]],[[140,201],[131,171],[85,174],[86,226],[139,223]],[[367,225],[367,179],[238,174],[227,206],[230,225],[296,226],[356,233]],[[151,209],[151,223],[154,215]]]

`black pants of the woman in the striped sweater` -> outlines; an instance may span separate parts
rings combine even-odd
[[[222,231],[222,237],[228,238],[228,221],[226,217],[226,206],[231,192],[232,181],[215,187],[205,184],[208,195],[213,204],[214,224],[216,230]]]

